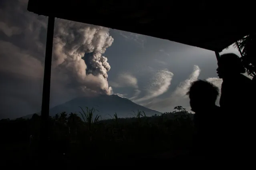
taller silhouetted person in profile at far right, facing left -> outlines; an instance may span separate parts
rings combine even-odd
[[[220,107],[226,121],[227,152],[239,158],[248,156],[252,150],[252,133],[255,110],[255,87],[252,80],[242,75],[246,69],[234,53],[220,56],[217,74],[222,78]]]

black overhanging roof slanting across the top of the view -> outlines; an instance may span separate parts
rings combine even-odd
[[[254,32],[252,6],[244,16],[234,1],[29,0],[28,11],[220,52]]]

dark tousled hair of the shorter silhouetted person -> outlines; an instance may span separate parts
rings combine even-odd
[[[219,95],[219,89],[212,83],[206,81],[206,80],[198,80],[194,81],[189,91],[187,92],[187,95],[189,95],[189,98],[193,99],[204,99],[206,101],[215,102],[218,95]]]

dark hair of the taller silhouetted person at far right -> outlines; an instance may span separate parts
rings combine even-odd
[[[221,63],[222,65],[224,65],[224,67],[227,67],[228,69],[230,68],[236,69],[240,73],[246,72],[246,69],[242,64],[242,60],[240,59],[240,57],[238,57],[238,55],[234,53],[226,53],[226,54],[220,55],[220,59],[218,63]]]

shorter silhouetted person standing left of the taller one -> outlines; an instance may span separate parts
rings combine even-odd
[[[216,106],[218,87],[208,81],[192,83],[188,93],[191,111],[194,111],[195,136],[193,154],[200,158],[215,155],[220,138],[220,107]]]

